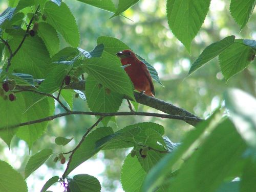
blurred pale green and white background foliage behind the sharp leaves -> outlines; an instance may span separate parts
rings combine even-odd
[[[155,82],[156,97],[166,102],[173,103],[200,117],[207,117],[215,108],[222,104],[222,93],[228,87],[238,87],[255,95],[255,64],[245,69],[242,73],[231,78],[227,83],[220,73],[218,60],[214,59],[207,65],[186,78],[191,63],[199,56],[202,50],[209,44],[219,41],[225,36],[235,35],[236,38],[256,38],[256,14],[252,14],[247,26],[240,32],[240,27],[234,22],[229,13],[228,0],[216,0],[212,2],[209,13],[196,38],[191,43],[191,55],[185,47],[175,38],[170,31],[165,10],[164,0],[141,0],[134,7],[109,19],[113,14],[78,1],[65,1],[74,14],[81,43],[79,47],[84,50],[92,50],[99,36],[112,36],[125,42],[140,56],[143,56],[158,71],[161,82],[165,87]],[[0,12],[7,8],[7,2],[0,2]],[[66,43],[61,41],[61,47]],[[121,51],[121,50],[120,50]],[[253,66],[254,65],[254,66]],[[75,99],[74,110],[89,110],[86,102]],[[86,107],[86,109],[84,109]],[[128,110],[127,103],[123,102],[120,111]],[[56,109],[61,110],[60,108]],[[146,106],[139,106],[139,111],[155,112]],[[155,122],[165,127],[166,135],[174,142],[179,142],[186,131],[191,129],[188,124],[172,119],[159,119],[154,117],[125,116],[116,117],[116,123],[110,122],[114,131],[139,122]],[[55,153],[70,151],[78,143],[84,130],[90,127],[96,118],[90,116],[67,116],[55,119],[48,126],[44,136],[38,139],[33,151],[39,151],[42,147],[54,148]],[[74,139],[65,147],[54,146],[57,136]],[[0,141],[0,155],[7,153],[6,145]],[[15,138],[12,143],[12,153],[22,146],[23,141]],[[15,146],[15,147],[14,147]],[[54,146],[54,147],[53,147]],[[28,160],[29,150],[24,148],[25,153],[17,153],[16,165],[20,171],[24,171],[25,162]],[[30,152],[31,153],[31,152]],[[105,172],[102,173],[103,191],[114,191],[120,181],[120,167],[127,154],[124,150],[104,151],[100,158],[105,164]],[[48,167],[63,170],[64,167],[52,160],[47,162]],[[95,157],[97,158],[97,157]],[[6,160],[6,159],[3,159]],[[10,161],[12,163],[13,160]],[[54,171],[53,171],[54,172]],[[54,175],[54,173],[52,174]],[[32,176],[33,177],[33,174]],[[49,178],[41,179],[45,181]],[[36,182],[35,182],[36,183]],[[33,184],[32,188],[38,188]],[[30,188],[30,190],[33,190]]]

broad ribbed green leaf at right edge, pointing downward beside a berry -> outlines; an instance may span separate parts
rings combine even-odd
[[[230,77],[242,71],[251,61],[255,51],[244,44],[233,43],[219,55],[221,72],[226,82]]]

